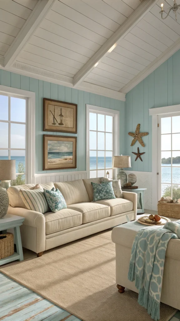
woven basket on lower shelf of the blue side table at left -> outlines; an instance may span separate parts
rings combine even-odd
[[[12,233],[0,234],[6,236],[5,239],[0,239],[0,259],[14,254],[14,235]]]

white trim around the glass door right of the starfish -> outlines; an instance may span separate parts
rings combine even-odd
[[[180,105],[150,108],[149,115],[152,116],[152,210],[157,211],[158,204],[158,116],[170,114],[176,115],[180,112]]]

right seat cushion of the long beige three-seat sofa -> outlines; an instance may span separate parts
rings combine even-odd
[[[114,198],[110,200],[101,200],[93,203],[103,204],[110,206],[110,215],[121,214],[133,210],[133,202],[124,198]]]

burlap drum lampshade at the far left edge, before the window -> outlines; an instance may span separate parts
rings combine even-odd
[[[16,161],[0,160],[0,180],[16,179]]]

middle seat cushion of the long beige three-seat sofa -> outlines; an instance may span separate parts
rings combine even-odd
[[[110,207],[104,204],[79,203],[68,205],[68,208],[82,213],[83,224],[110,216]]]

